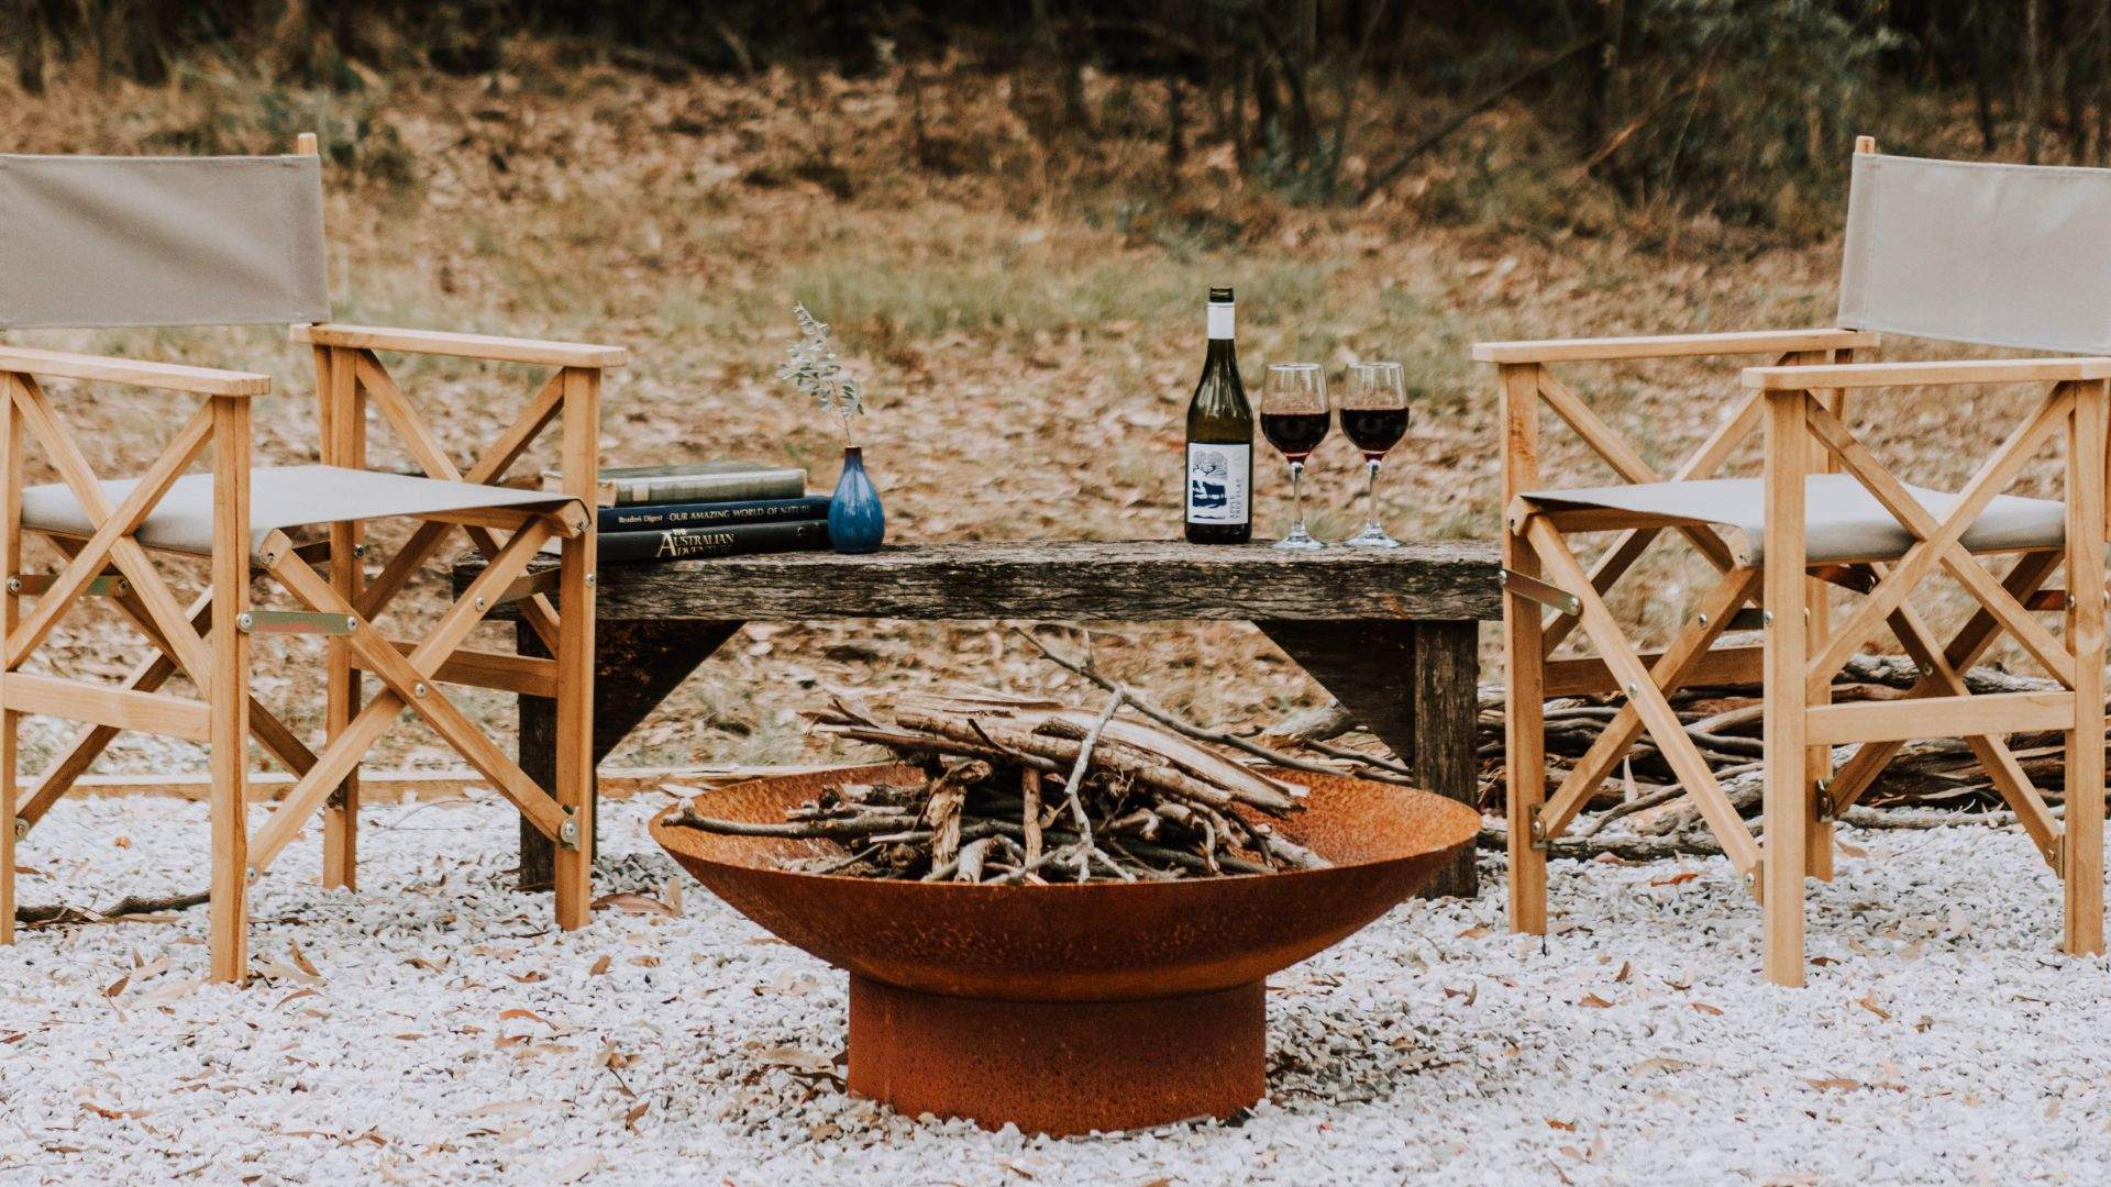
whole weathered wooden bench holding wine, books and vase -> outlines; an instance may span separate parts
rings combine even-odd
[[[481,558],[462,560],[460,587]],[[505,608],[500,608],[500,615]],[[1298,661],[1429,790],[1473,803],[1482,619],[1501,617],[1495,545],[1288,553],[1264,545],[961,543],[868,555],[766,553],[608,564],[595,598],[600,762],[743,623],[813,619],[1248,621]],[[519,627],[524,655],[545,655]],[[1148,686],[1148,680],[1142,682]],[[555,765],[555,701],[519,697],[519,762]],[[521,885],[549,883],[521,828]],[[1473,855],[1433,893],[1473,893]]]

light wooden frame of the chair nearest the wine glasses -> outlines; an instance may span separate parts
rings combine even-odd
[[[1853,805],[1910,737],[1961,735],[1989,769],[2039,853],[2065,881],[2065,938],[2071,953],[2103,950],[2103,663],[2105,663],[2105,435],[2111,361],[2014,359],[1963,363],[1853,363],[1851,351],[1875,336],[1845,329],[1782,334],[1697,334],[1628,340],[1490,342],[1476,357],[1497,363],[1503,380],[1503,562],[1505,653],[1509,659],[1509,921],[1545,931],[1547,843],[1560,836],[1590,794],[1647,731],[1765,908],[1765,969],[1777,984],[1803,982],[1805,877],[1830,879],[1830,824]],[[1541,509],[1539,406],[1545,403],[1625,482],[1659,475],[1549,370],[1558,361],[1617,361],[1775,353],[1773,368],[1744,372],[1737,410],[1670,477],[1701,479],[1752,433],[1765,437],[1765,560],[1739,566],[1712,528],[1691,520],[1619,511]],[[2050,382],[2037,408],[1965,484],[1946,520],[1929,515],[1845,425],[1847,393],[1868,387],[1955,387]],[[1986,503],[2024,463],[2065,431],[2067,539],[2060,549],[2018,555],[2005,577],[1989,572],[1959,543]],[[1805,564],[1805,475],[1839,469],[1856,477],[1915,539],[1896,560]],[[1606,589],[1666,528],[1682,532],[1720,572],[1661,653],[1644,655],[1604,604]],[[1571,549],[1571,532],[1621,532],[1592,566]],[[1792,560],[1788,560],[1792,558]],[[2046,596],[2043,581],[2067,560],[2069,591]],[[1934,638],[1906,596],[1946,570],[1978,604],[1948,644]],[[1862,594],[1839,623],[1828,621],[1828,587]],[[1543,606],[1554,606],[1545,615]],[[1761,648],[1712,644],[1746,604],[1763,608]],[[1799,613],[1782,613],[1794,606]],[[2031,613],[2065,608],[2065,640]],[[1549,661],[1573,629],[1598,657]],[[1923,676],[1908,699],[1828,703],[1832,676],[1889,629]],[[2052,693],[1967,695],[1961,672],[2008,634],[2058,680]],[[1742,822],[1670,695],[1695,680],[1748,680],[1765,689],[1765,845]],[[1625,703],[1568,777],[1545,794],[1543,697],[1625,695]],[[2052,817],[2001,735],[2065,731],[2067,826]],[[1830,748],[1862,743],[1830,771]],[[2096,788],[2090,796],[2084,790]]]

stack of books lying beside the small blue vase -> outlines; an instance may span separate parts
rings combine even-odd
[[[604,469],[602,560],[682,560],[828,547],[828,496],[806,471],[749,463]]]

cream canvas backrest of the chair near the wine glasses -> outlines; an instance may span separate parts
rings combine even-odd
[[[1839,325],[2111,355],[2111,169],[1858,152]]]

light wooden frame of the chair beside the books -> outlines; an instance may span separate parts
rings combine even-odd
[[[315,152],[315,139],[304,135],[300,150]],[[6,397],[8,412],[0,418],[0,572],[11,574],[0,594],[0,819],[15,822],[13,828],[0,828],[0,942],[13,940],[15,841],[74,786],[118,731],[137,729],[203,741],[211,752],[211,976],[234,982],[247,978],[249,877],[262,874],[321,811],[323,883],[355,887],[359,762],[405,710],[422,718],[536,830],[555,841],[557,925],[574,929],[587,921],[593,862],[593,490],[600,391],[602,372],[621,368],[625,353],[578,342],[327,323],[296,325],[291,334],[315,355],[325,465],[365,467],[369,401],[403,437],[426,475],[443,482],[496,484],[545,429],[557,425],[564,494],[574,501],[555,511],[416,515],[420,524],[410,541],[372,577],[363,562],[363,522],[329,524],[327,539],[308,545],[296,545],[285,532],[270,532],[251,553],[249,401],[268,393],[266,376],[0,346],[0,395]],[[555,374],[498,439],[469,469],[460,469],[388,376],[378,351],[524,363],[555,368]],[[38,376],[194,393],[205,401],[133,492],[112,507],[38,387]],[[65,566],[49,581],[21,574],[23,446],[30,439],[46,450],[95,526],[87,539],[46,534],[68,555]],[[205,596],[186,608],[156,572],[135,532],[169,486],[207,450],[215,484],[211,579]],[[486,570],[422,640],[386,636],[376,619],[454,528],[462,528],[490,558]],[[530,562],[549,541],[559,541],[553,585],[540,574],[528,574]],[[317,562],[323,564],[321,570]],[[253,610],[249,587],[258,574],[272,577],[304,610]],[[154,655],[118,684],[23,672],[59,617],[97,587],[114,598],[154,646]],[[23,613],[21,600],[30,591],[36,602]],[[553,659],[464,646],[492,608],[513,600],[521,602],[524,619]],[[321,752],[302,743],[249,695],[251,636],[281,629],[329,636],[327,739]],[[203,699],[158,691],[177,672],[192,680]],[[380,682],[380,693],[367,703],[361,703],[361,674]],[[528,777],[439,684],[555,699],[553,786],[543,788]],[[30,712],[80,720],[87,729],[44,771],[27,800],[19,800],[17,733],[21,714]],[[296,775],[293,788],[255,836],[245,817],[249,737]]]

